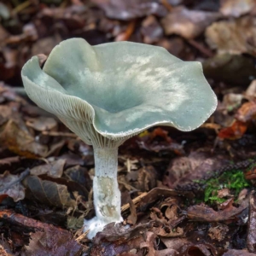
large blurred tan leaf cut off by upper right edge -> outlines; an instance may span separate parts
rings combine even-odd
[[[207,43],[218,54],[230,53],[256,55],[255,17],[244,16],[237,20],[222,20],[208,26]]]

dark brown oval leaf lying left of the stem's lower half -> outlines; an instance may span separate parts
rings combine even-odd
[[[76,201],[71,198],[66,185],[61,185],[36,176],[26,177],[24,185],[40,202],[55,207],[75,207]]]

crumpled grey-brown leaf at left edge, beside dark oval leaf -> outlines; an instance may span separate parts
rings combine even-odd
[[[25,198],[25,188],[20,183],[28,175],[28,171],[22,172],[20,176],[5,171],[0,175],[0,195],[9,195],[14,201]]]

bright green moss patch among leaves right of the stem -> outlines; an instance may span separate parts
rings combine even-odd
[[[250,185],[240,170],[224,172],[217,178],[209,179],[206,184],[204,201],[211,204],[226,201],[226,199],[218,197],[218,190],[220,189],[230,189],[231,193],[236,197],[241,189]]]

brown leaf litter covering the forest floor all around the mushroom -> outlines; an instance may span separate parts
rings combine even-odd
[[[0,6],[0,254],[256,255],[255,1]],[[154,44],[201,61],[218,95],[197,130],[155,127],[119,148],[124,222],[92,241],[82,230],[95,214],[92,148],[20,88],[26,60],[39,55],[42,66],[72,37]]]

